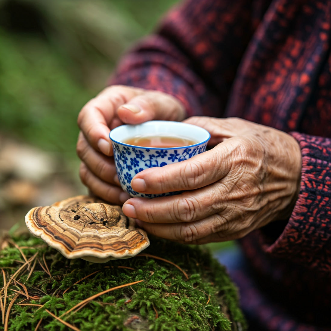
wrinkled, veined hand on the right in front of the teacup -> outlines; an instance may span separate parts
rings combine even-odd
[[[131,198],[123,212],[148,232],[203,244],[245,236],[290,216],[301,178],[301,151],[289,134],[239,118],[193,117],[211,133],[213,149],[177,164],[149,168],[131,181],[135,191],[180,195]]]

